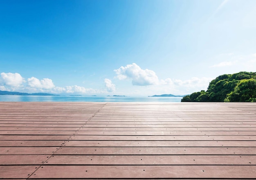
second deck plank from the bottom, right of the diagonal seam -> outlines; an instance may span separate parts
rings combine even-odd
[[[1,157],[1,156],[0,156]],[[256,165],[256,155],[54,155],[45,165]]]

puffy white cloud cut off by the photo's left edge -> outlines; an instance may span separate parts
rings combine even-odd
[[[22,86],[22,83],[24,83],[24,78],[19,73],[1,73],[0,77],[0,85],[3,86],[10,86],[12,88],[18,88]]]

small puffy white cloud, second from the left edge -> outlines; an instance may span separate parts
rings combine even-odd
[[[31,77],[27,79],[27,84],[29,88],[38,88],[38,89],[52,89],[54,88],[54,83],[52,82],[52,79],[43,78],[42,80],[39,80],[35,77]]]

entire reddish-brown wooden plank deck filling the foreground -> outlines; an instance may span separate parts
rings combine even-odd
[[[256,103],[0,102],[0,179],[255,179]]]

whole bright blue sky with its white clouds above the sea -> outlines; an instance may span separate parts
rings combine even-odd
[[[255,0],[0,4],[0,90],[183,95],[256,72]]]

